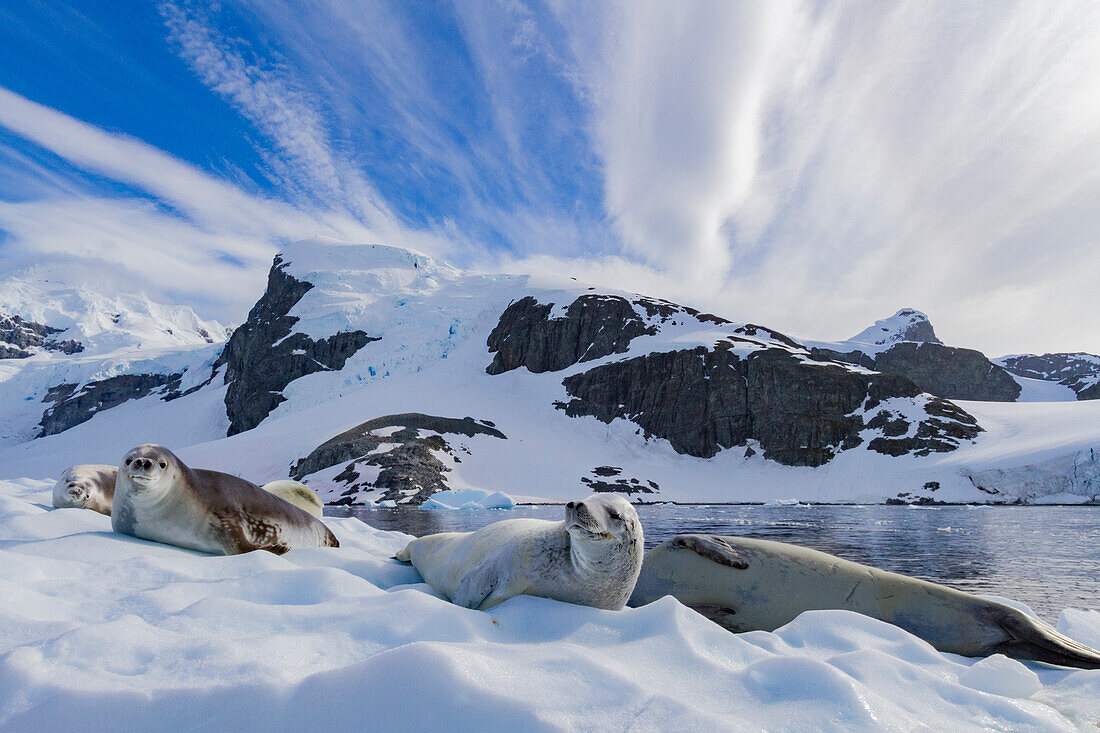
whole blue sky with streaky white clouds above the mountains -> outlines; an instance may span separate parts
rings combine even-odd
[[[0,267],[239,321],[328,234],[798,336],[911,306],[991,353],[1096,351],[1098,13],[15,0]]]

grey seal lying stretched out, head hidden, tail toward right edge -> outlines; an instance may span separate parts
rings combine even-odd
[[[773,631],[803,611],[856,611],[941,652],[1100,668],[1100,652],[1012,606],[817,550],[747,537],[680,535],[646,555],[630,605],[673,595],[732,632]]]

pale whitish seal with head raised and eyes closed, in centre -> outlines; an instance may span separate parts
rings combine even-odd
[[[397,554],[458,605],[491,609],[541,595],[622,609],[641,569],[641,522],[622,496],[565,504],[565,521],[505,519],[414,539]]]

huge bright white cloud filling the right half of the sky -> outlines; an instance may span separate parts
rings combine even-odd
[[[804,335],[912,305],[991,352],[1100,349],[1094,3],[590,13],[560,17],[609,214],[698,298]]]

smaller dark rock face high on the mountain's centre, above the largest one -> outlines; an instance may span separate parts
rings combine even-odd
[[[542,305],[530,296],[509,305],[488,336],[488,350],[496,353],[485,371],[503,374],[526,366],[536,373],[552,372],[623,353],[635,337],[657,332],[629,300],[617,296],[582,295],[563,318],[550,318],[552,308],[552,303]]]

